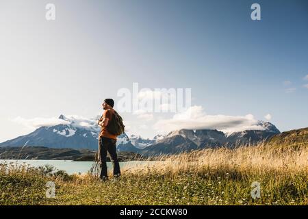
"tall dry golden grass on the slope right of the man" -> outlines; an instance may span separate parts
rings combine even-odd
[[[308,142],[285,146],[270,146],[264,142],[257,146],[239,146],[237,149],[203,149],[179,155],[161,156],[155,162],[126,169],[127,173],[155,171],[203,172],[205,168],[236,169],[238,171],[308,172]]]

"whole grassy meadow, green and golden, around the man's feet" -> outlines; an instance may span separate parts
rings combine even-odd
[[[26,168],[9,172],[8,168],[0,168],[1,191],[6,192],[0,204],[308,204],[307,142],[204,149],[151,160],[146,165],[123,168],[120,180],[110,181],[97,179],[97,166],[94,175],[70,177],[46,175],[34,169],[29,173]],[[44,197],[46,181],[55,181],[55,198]],[[254,181],[261,186],[259,198],[251,196]]]

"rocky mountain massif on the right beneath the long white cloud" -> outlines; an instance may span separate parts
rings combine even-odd
[[[180,129],[140,151],[143,155],[174,154],[196,149],[233,147],[243,144],[255,144],[266,140],[280,131],[272,123],[259,121],[258,130],[246,130],[235,133],[223,133],[213,129]]]

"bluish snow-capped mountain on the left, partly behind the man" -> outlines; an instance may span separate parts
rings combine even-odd
[[[98,148],[101,127],[97,117],[92,119],[80,116],[59,116],[59,124],[40,127],[35,131],[0,144],[0,146],[47,146],[50,148],[92,149]],[[142,138],[139,140],[142,142]],[[119,151],[138,151],[125,133],[118,136],[116,145]]]

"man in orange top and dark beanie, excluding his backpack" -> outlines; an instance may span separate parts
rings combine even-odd
[[[101,164],[101,179],[108,179],[106,156],[107,151],[114,166],[114,177],[120,177],[120,165],[116,155],[116,137],[107,131],[107,125],[114,117],[114,100],[105,99],[103,102],[103,116],[99,120],[101,133],[99,133],[99,160]]]

